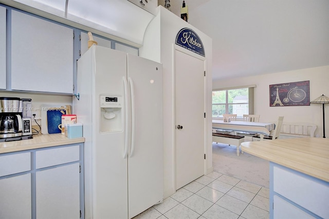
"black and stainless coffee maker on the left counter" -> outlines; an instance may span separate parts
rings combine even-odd
[[[29,100],[24,102],[30,103],[31,99]],[[0,107],[0,142],[32,138],[31,117],[27,120],[26,117],[23,118],[21,98],[0,97]]]

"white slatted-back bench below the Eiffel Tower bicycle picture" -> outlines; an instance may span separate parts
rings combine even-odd
[[[296,137],[314,137],[317,125],[312,123],[287,123],[282,124],[280,139]]]

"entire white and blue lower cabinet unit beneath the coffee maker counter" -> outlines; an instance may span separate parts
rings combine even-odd
[[[0,219],[84,218],[83,143],[0,154]]]

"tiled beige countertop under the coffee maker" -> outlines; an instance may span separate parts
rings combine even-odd
[[[38,134],[33,135],[32,139],[13,141],[13,142],[1,142],[0,154],[14,151],[23,151],[36,148],[45,148],[59,145],[77,144],[85,141],[84,137],[68,138],[59,134]]]

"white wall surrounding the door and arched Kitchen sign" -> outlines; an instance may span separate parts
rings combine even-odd
[[[157,16],[149,24],[144,35],[143,46],[139,49],[139,55],[153,61],[162,63],[163,67],[163,118],[164,118],[164,196],[175,192],[175,123],[174,123],[174,44],[177,33],[182,28],[190,28],[201,38],[206,54],[206,115],[211,115],[211,91],[212,91],[212,39],[183,21],[167,9],[159,6]],[[193,86],[193,85],[187,85]],[[206,164],[205,173],[212,171],[212,136],[211,116],[206,116]],[[191,167],[193,168],[193,167]]]

